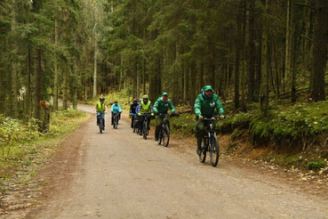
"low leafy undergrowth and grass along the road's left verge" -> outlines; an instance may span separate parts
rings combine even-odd
[[[52,156],[53,144],[86,119],[82,111],[58,110],[51,114],[49,131],[41,134],[35,119],[26,124],[0,115],[0,183],[9,180],[21,166],[36,167],[36,159]]]

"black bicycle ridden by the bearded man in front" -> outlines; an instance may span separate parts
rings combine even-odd
[[[205,121],[206,134],[202,139],[202,152],[199,155],[199,161],[205,162],[206,151],[210,152],[210,161],[212,166],[217,166],[220,158],[219,141],[216,137],[215,121],[220,118],[203,118]]]

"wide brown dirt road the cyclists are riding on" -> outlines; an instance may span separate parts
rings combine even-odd
[[[104,134],[90,120],[72,135],[64,146],[76,147],[76,162],[68,158],[60,171],[68,182],[49,182],[52,197],[28,217],[328,218],[327,199],[229,166],[224,157],[215,168],[201,164],[195,148],[180,150],[183,141],[164,148],[153,134],[145,141],[126,121],[114,130],[109,120]]]

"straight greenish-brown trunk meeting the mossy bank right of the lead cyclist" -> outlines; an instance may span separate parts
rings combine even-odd
[[[261,117],[268,116],[268,0],[265,0],[265,12],[262,14],[262,55],[260,80],[260,111]]]

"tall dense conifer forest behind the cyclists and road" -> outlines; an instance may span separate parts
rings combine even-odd
[[[325,0],[1,0],[0,113],[39,118],[112,91],[236,110],[298,92],[325,100]]]

